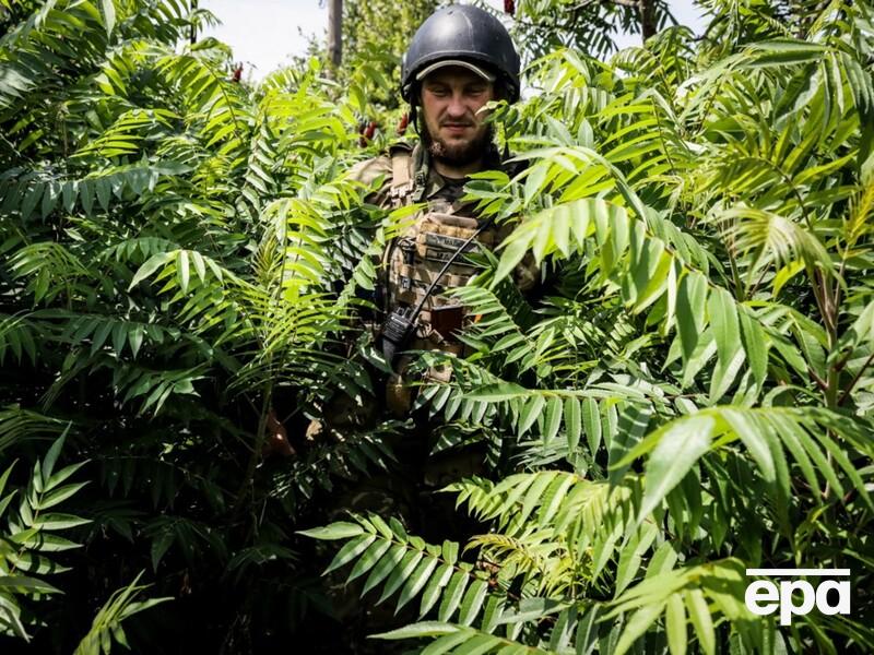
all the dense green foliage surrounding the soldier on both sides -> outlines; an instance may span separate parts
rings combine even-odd
[[[494,108],[527,167],[466,189],[509,236],[453,291],[477,317],[469,355],[414,365],[452,372],[420,384],[432,452],[486,452],[446,490],[481,534],[436,545],[410,516],[334,521],[422,437],[355,419],[381,394],[359,318],[404,213],[345,171],[390,138],[392,52],[432,5],[352,3],[362,66],[252,88],[226,46],[189,43],[210,16],[188,3],[0,0],[9,639],[345,643],[312,537],[335,541],[349,594],[416,621],[379,636],[425,653],[874,647],[874,11],[708,0],[695,40],[649,35],[666,5],[635,4],[520,0],[507,19],[542,55],[530,98]],[[649,38],[593,59],[616,21]],[[68,425],[80,464],[62,467]],[[851,568],[852,616],[751,615],[744,569],[771,565]],[[158,597],[139,600],[146,569]]]

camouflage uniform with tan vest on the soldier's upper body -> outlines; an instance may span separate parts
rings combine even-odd
[[[411,147],[400,143],[388,154],[358,164],[351,176],[367,186],[381,177],[381,186],[368,200],[382,207],[427,203],[427,209],[418,212],[412,225],[383,252],[378,303],[385,318],[398,306],[413,307],[421,301],[423,310],[416,334],[406,349],[463,355],[456,332],[465,321],[464,309],[457,298],[442,291],[465,286],[476,271],[463,254],[456,257],[451,264],[447,262],[459,250],[468,252],[477,245],[494,250],[511,228],[499,228],[477,219],[474,203],[460,200],[465,180],[445,178],[430,166],[429,159],[421,144]],[[520,167],[504,164],[491,145],[483,169],[501,169],[513,176]],[[516,267],[515,278],[522,291],[534,286],[538,269],[531,258]],[[432,285],[434,290],[428,294]],[[387,384],[387,406],[395,416],[406,415],[411,406],[410,380],[403,378],[409,361],[409,357],[401,358],[395,366],[398,373]],[[429,377],[448,381],[448,371],[432,369]]]

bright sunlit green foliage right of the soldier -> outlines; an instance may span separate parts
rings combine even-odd
[[[423,356],[452,378],[418,401],[447,424],[437,450],[481,441],[522,469],[446,489],[488,526],[464,552],[495,609],[379,636],[424,653],[874,643],[864,594],[791,629],[744,605],[752,567],[871,582],[872,8],[708,4],[718,44],[677,28],[606,66],[552,52],[539,93],[496,108],[529,166],[468,190],[513,230],[457,291],[473,354]],[[548,275],[533,308],[507,283],[525,257]],[[334,567],[388,567],[368,520],[309,534],[343,541]]]

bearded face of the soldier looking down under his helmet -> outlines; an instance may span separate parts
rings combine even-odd
[[[491,82],[461,67],[434,71],[422,83],[424,140],[432,155],[446,164],[463,166],[483,156],[491,138],[477,110],[494,99]]]

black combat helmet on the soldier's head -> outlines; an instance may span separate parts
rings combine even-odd
[[[494,80],[500,76],[507,99],[519,99],[519,55],[495,16],[471,4],[434,12],[416,31],[401,67],[401,95],[413,104],[413,86],[437,68],[457,64]]]

